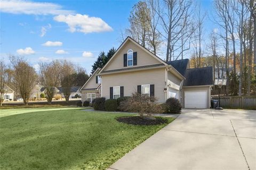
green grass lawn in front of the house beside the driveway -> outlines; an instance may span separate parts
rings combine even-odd
[[[105,169],[165,126],[115,120],[125,115],[79,108],[2,109],[0,169]]]

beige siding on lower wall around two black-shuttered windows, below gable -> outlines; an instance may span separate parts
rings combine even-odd
[[[165,102],[165,68],[102,75],[102,96],[110,98],[110,87],[124,86],[124,96],[137,92],[138,85],[154,84],[158,102]]]

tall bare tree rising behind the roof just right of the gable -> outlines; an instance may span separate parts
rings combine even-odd
[[[187,34],[191,6],[192,1],[186,0],[164,0],[163,3],[157,1],[155,11],[162,22],[162,36],[166,41],[166,61],[170,61],[175,51],[180,50],[180,41]]]

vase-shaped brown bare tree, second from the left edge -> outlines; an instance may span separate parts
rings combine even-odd
[[[24,104],[28,105],[29,98],[37,83],[36,70],[22,58],[11,56],[10,61],[13,67],[14,84],[17,86]]]

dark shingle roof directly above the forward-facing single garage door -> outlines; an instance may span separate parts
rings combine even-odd
[[[213,85],[212,67],[187,69],[183,86]]]

